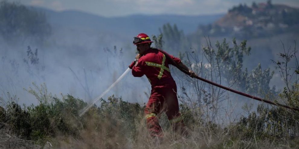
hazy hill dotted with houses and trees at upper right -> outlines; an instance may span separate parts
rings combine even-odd
[[[201,26],[199,33],[211,36],[230,35],[243,39],[268,37],[281,33],[299,31],[299,8],[287,5],[252,3],[238,5],[211,25]]]

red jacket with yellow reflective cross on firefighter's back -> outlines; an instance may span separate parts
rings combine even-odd
[[[169,57],[177,64],[181,62],[177,57],[173,57],[172,55],[169,55]],[[157,49],[150,48],[139,58],[138,64],[133,66],[132,74],[135,77],[146,75],[152,87],[172,84],[174,80],[170,74],[169,64],[171,63],[166,59],[163,53]]]

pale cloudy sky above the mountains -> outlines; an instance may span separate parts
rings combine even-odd
[[[56,11],[80,10],[105,17],[130,14],[216,14],[225,13],[233,5],[251,5],[248,0],[8,0],[24,5],[40,6]],[[255,0],[266,2],[267,0]],[[299,0],[272,0],[299,8]]]

